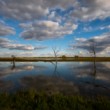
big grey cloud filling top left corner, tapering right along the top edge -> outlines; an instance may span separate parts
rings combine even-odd
[[[0,14],[18,20],[31,20],[47,15],[49,9],[67,8],[74,4],[75,0],[0,0]]]

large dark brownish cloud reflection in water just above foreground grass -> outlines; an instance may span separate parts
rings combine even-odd
[[[21,79],[22,88],[34,88],[37,91],[45,91],[48,94],[63,93],[63,94],[76,94],[78,88],[71,81],[66,81],[63,78],[48,77],[48,76],[35,76],[24,77]]]

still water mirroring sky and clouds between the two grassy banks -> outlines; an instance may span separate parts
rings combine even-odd
[[[0,62],[0,92],[110,96],[110,62]]]

